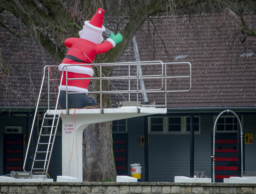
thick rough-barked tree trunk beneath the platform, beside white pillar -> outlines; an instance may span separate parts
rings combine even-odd
[[[83,181],[116,180],[110,129],[112,122],[96,123],[83,133]]]

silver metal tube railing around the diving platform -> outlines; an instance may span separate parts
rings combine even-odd
[[[188,65],[188,74],[187,76],[167,76],[168,73],[168,66],[171,66],[173,64],[187,64]],[[88,64],[92,65],[92,64]],[[60,83],[62,83],[64,72],[66,72],[66,77],[68,75],[68,68],[70,66],[74,65],[65,65],[62,69],[62,77],[60,79]],[[81,65],[76,65],[81,66]],[[84,65],[86,66],[86,65]],[[130,101],[130,95],[136,94],[136,101],[137,101],[137,109],[138,109],[138,96],[141,93],[164,93],[165,94],[165,104],[161,105],[166,107],[167,106],[167,94],[170,92],[189,92],[191,90],[191,64],[189,62],[180,62],[180,63],[163,63],[161,61],[146,61],[146,62],[124,62],[124,63],[105,63],[105,64],[93,64],[93,66],[97,67],[100,71],[100,77],[92,77],[92,78],[67,78],[66,79],[66,86],[68,85],[68,80],[99,80],[100,81],[100,91],[94,91],[94,92],[86,92],[86,94],[99,94],[100,95],[100,110],[102,112],[102,94],[128,94],[128,101]],[[126,76],[113,76],[113,77],[105,77],[102,76],[102,68],[107,66],[119,66],[123,67],[127,70]],[[147,66],[147,67],[157,67],[158,74],[149,74],[149,75],[139,75],[139,66]],[[132,68],[134,67],[134,68]],[[131,74],[131,71],[135,70],[134,74]],[[152,72],[152,71],[151,71]],[[188,78],[188,87],[186,90],[168,90],[167,86],[167,80],[173,79],[173,78]],[[147,79],[157,79],[160,80],[160,85],[157,89],[144,89],[141,90],[140,80],[147,80]],[[111,90],[111,91],[103,91],[102,90],[102,81],[104,80],[128,80],[128,88],[127,90]],[[136,81],[136,88],[131,89],[131,82],[135,80]],[[49,82],[48,82],[49,83]],[[48,84],[49,88],[49,84]],[[66,87],[66,111],[68,110],[68,94],[85,94],[85,92],[68,92],[68,88]],[[48,104],[49,104],[49,98],[48,98]],[[57,98],[58,102],[58,98]],[[140,106],[143,106],[142,104]],[[154,105],[154,106],[160,106],[160,105]],[[57,107],[57,104],[56,104]],[[67,112],[66,112],[67,113]]]

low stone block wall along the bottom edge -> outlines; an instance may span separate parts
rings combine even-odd
[[[256,194],[256,184],[174,182],[0,183],[0,194]]]

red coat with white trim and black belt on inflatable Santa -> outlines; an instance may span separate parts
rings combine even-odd
[[[70,48],[59,66],[60,76],[62,76],[62,69],[64,68],[63,80],[60,90],[66,91],[66,68],[68,71],[68,78],[91,78],[94,71],[91,65],[86,66],[68,66],[66,64],[91,64],[96,54],[104,53],[110,50],[113,45],[105,41],[100,44],[95,44],[84,38],[68,38],[64,44]],[[88,80],[68,80],[68,91],[70,92],[88,92]]]

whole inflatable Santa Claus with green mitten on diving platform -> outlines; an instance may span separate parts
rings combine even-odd
[[[90,21],[85,21],[79,32],[80,38],[68,38],[64,44],[69,48],[65,58],[59,66],[63,80],[60,85],[60,108],[66,108],[66,71],[68,78],[90,78],[94,75],[91,64],[96,54],[104,53],[122,41],[122,35],[113,33],[103,42],[102,32],[106,29],[102,25],[105,10],[98,8]],[[65,66],[76,65],[76,66]],[[81,65],[81,66],[77,66]],[[88,92],[90,79],[68,80],[68,92]],[[86,94],[68,94],[68,108],[84,108],[93,100]]]

